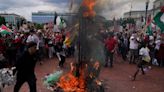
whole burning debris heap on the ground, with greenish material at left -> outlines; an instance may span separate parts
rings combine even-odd
[[[70,64],[70,72],[63,74],[57,71],[45,77],[44,84],[54,92],[104,92],[102,82],[98,79],[100,72],[99,62],[93,66],[84,65],[80,68],[79,77],[76,76],[76,65]]]

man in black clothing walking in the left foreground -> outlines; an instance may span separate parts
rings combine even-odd
[[[36,77],[34,73],[36,46],[37,44],[34,42],[29,43],[27,51],[16,62],[17,82],[14,92],[19,92],[24,82],[28,83],[30,92],[36,92]]]

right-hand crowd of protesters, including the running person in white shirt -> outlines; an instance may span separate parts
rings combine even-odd
[[[135,80],[139,70],[145,74],[147,69],[151,69],[152,65],[164,66],[164,36],[159,31],[154,31],[153,35],[141,31],[129,31],[128,29],[122,32],[111,33],[104,38],[106,64],[113,67],[113,55],[115,52],[121,56],[123,61],[128,61],[129,64],[136,64],[138,69],[132,76]],[[110,60],[108,60],[110,58]]]

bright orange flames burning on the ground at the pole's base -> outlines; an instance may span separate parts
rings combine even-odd
[[[79,77],[75,77],[73,72],[74,70],[62,76],[58,86],[61,87],[64,92],[86,92],[84,70],[81,69]]]

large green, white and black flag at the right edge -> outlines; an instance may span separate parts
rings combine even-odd
[[[161,29],[161,33],[164,33],[164,6],[161,11],[154,17],[154,22]]]

